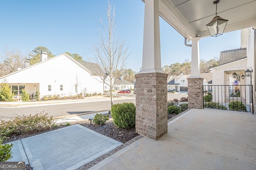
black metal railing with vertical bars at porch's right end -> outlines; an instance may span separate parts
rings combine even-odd
[[[203,85],[203,106],[253,114],[252,90],[252,85]]]

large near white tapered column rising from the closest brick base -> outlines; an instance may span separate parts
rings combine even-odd
[[[161,69],[159,0],[145,0],[142,70],[164,73]]]

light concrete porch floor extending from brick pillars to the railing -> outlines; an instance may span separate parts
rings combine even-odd
[[[168,123],[158,141],[147,137],[90,170],[255,170],[256,116],[217,109],[191,109]]]

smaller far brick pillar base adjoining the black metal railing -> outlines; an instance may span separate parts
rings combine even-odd
[[[203,109],[204,78],[188,78],[188,108]]]

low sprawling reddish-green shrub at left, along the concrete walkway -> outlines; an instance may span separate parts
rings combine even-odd
[[[8,139],[11,136],[27,135],[50,129],[53,125],[55,120],[45,111],[35,115],[18,115],[10,121],[0,119],[0,137]]]

